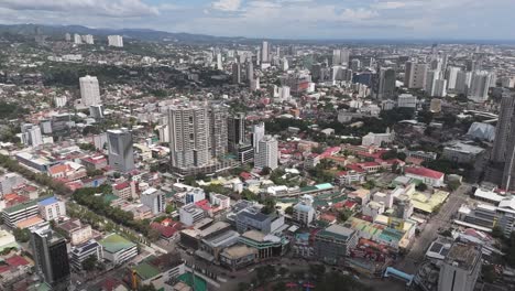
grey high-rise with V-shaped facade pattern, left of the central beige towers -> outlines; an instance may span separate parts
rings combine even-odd
[[[134,169],[134,151],[132,148],[132,132],[127,128],[107,131],[109,143],[109,165],[119,172]]]

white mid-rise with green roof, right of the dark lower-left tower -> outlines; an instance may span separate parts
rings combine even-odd
[[[122,265],[138,255],[134,242],[117,234],[110,234],[99,241],[103,249],[103,258],[114,266]]]

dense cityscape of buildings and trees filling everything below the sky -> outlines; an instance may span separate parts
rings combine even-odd
[[[0,290],[515,290],[513,44],[152,33],[0,26]]]

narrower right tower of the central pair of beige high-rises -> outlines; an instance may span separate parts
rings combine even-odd
[[[215,158],[223,157],[227,154],[228,117],[229,110],[227,106],[220,104],[212,104],[209,107],[209,146],[211,149],[211,155]]]

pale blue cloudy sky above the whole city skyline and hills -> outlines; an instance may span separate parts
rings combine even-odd
[[[515,0],[0,0],[0,23],[270,39],[515,40]]]

